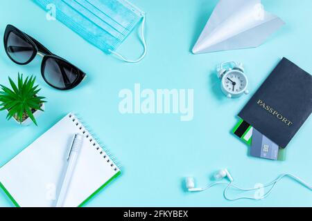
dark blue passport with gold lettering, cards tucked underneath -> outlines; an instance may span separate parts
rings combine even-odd
[[[239,117],[286,148],[311,112],[312,76],[283,58]]]

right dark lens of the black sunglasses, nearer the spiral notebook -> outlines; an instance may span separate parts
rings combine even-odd
[[[73,85],[79,77],[79,70],[65,61],[55,58],[46,59],[44,65],[44,78],[52,86],[66,89]]]

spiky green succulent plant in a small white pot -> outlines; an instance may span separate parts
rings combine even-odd
[[[35,111],[42,110],[45,97],[37,96],[41,89],[35,86],[35,77],[26,77],[18,74],[17,84],[8,77],[12,89],[0,84],[0,111],[8,110],[7,119],[14,117],[18,122],[30,117],[35,125],[36,119],[33,116]]]

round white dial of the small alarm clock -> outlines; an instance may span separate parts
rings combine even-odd
[[[223,76],[222,84],[227,93],[237,95],[247,89],[248,79],[240,71],[232,70]]]

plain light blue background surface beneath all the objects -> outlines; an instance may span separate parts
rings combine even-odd
[[[40,75],[40,58],[28,66],[13,64],[0,47],[0,82],[8,75],[36,75],[47,97],[39,127],[21,127],[0,113],[0,164],[3,165],[67,113],[79,113],[123,165],[123,173],[87,206],[312,206],[312,194],[285,179],[266,200],[227,202],[223,186],[205,193],[186,193],[182,178],[196,177],[198,186],[209,182],[217,169],[226,167],[236,184],[252,187],[269,182],[280,173],[295,173],[312,182],[312,118],[288,146],[286,162],[248,156],[248,146],[230,134],[235,116],[250,95],[226,99],[214,67],[222,61],[245,64],[254,93],[281,57],[287,57],[312,73],[310,0],[263,1],[266,10],[279,15],[286,26],[259,48],[191,55],[216,0],[132,0],[147,13],[148,55],[139,64],[125,64],[87,44],[58,21],[46,21],[45,12],[28,0],[1,1],[0,37],[12,23],[35,37],[55,54],[88,74],[87,81],[67,92],[53,90]],[[119,48],[138,57],[137,31]],[[142,88],[193,88],[194,119],[180,122],[178,115],[121,115],[119,91]],[[22,184],[21,184],[22,185]],[[12,206],[1,193],[0,206]]]

